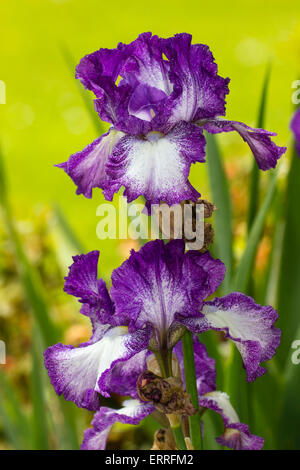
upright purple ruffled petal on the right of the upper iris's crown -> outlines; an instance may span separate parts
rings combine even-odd
[[[169,122],[196,121],[225,114],[225,96],[229,79],[218,75],[218,67],[209,47],[191,44],[190,34],[161,39],[162,50],[170,62],[170,80],[174,90],[166,103]]]

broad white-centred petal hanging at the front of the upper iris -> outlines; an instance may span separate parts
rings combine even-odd
[[[190,166],[196,161],[205,161],[205,139],[192,124],[182,122],[167,135],[127,135],[108,159],[106,172],[112,181],[105,196],[112,199],[124,186],[129,202],[139,196],[145,196],[148,204],[196,200],[199,193],[188,181]]]

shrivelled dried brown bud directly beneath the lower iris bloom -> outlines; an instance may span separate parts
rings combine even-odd
[[[146,370],[138,378],[137,390],[141,400],[152,401],[161,413],[187,415],[196,413],[190,396],[182,389],[182,382],[179,378],[163,379],[150,370]]]

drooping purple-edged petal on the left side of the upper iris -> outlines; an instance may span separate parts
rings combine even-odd
[[[92,197],[93,188],[104,188],[107,182],[105,165],[114,145],[124,134],[111,130],[85,147],[81,152],[71,155],[68,161],[60,163],[62,168],[77,186],[77,194]]]

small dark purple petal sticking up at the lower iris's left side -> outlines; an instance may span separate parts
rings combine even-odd
[[[64,291],[79,298],[83,304],[81,313],[88,316],[93,324],[112,324],[114,307],[102,279],[98,280],[99,251],[73,256],[74,263],[65,277]]]

